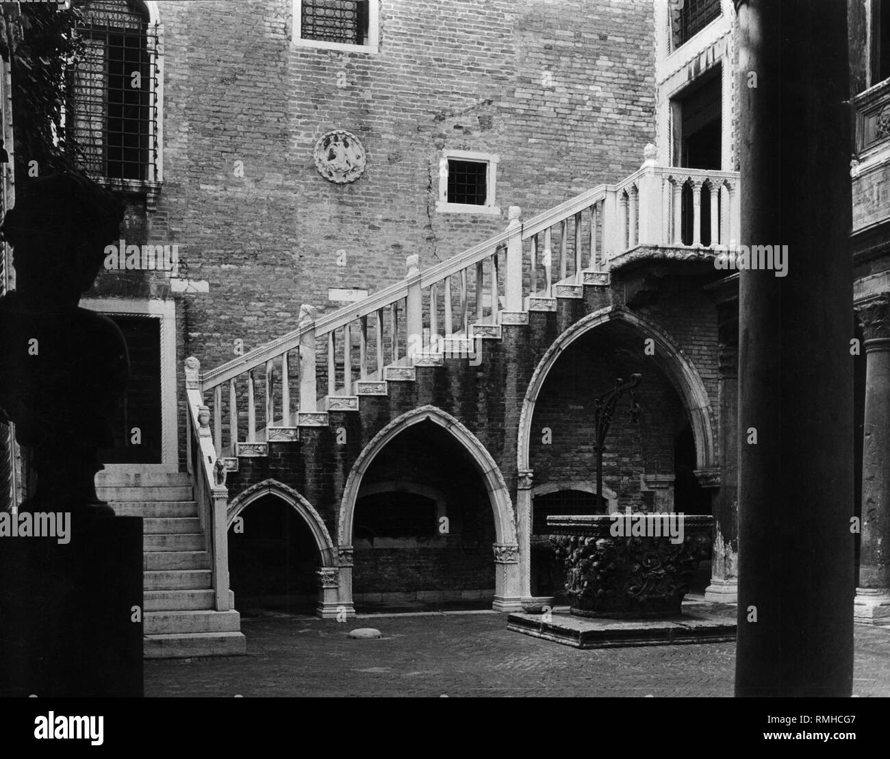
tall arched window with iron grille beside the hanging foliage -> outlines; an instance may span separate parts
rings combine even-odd
[[[82,0],[85,54],[71,77],[73,134],[96,178],[158,179],[158,25],[138,2]]]

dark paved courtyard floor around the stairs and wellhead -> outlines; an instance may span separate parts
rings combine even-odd
[[[245,618],[246,657],[145,662],[146,696],[732,696],[734,643],[578,650],[468,612]],[[376,627],[379,640],[350,640]],[[890,629],[855,627],[854,693],[890,696]]]

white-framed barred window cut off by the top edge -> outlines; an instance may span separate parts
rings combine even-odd
[[[294,0],[294,43],[377,52],[378,0]]]

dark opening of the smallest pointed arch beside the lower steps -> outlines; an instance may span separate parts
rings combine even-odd
[[[314,614],[318,546],[305,519],[276,495],[264,495],[229,528],[229,582],[244,616]],[[243,532],[239,530],[243,529]]]

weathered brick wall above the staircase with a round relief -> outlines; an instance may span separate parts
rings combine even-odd
[[[207,368],[235,339],[292,329],[303,302],[332,307],[328,287],[376,289],[410,253],[425,266],[498,232],[511,204],[530,215],[629,174],[651,139],[646,0],[384,2],[376,55],[291,45],[289,0],[160,10],[165,186],[149,236],[178,241],[209,282],[184,297]],[[353,184],[312,161],[334,128],[368,152]],[[500,216],[436,212],[443,148],[498,153]]]

